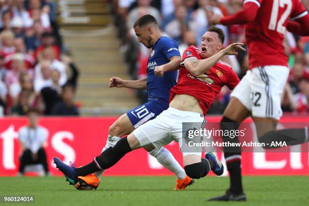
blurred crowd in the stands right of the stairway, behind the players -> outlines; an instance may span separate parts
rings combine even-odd
[[[309,11],[309,0],[301,1]],[[154,16],[164,35],[177,40],[179,51],[189,46],[200,46],[201,36],[211,26],[214,14],[228,16],[242,8],[242,0],[114,0],[115,25],[121,42],[121,52],[132,79],[146,76],[147,60],[151,49],[137,42],[133,30],[134,22],[145,14]],[[225,31],[224,45],[232,42],[245,43],[244,26],[219,26]],[[289,57],[290,74],[282,94],[284,112],[309,112],[309,37],[299,37],[287,32],[284,40],[285,52]],[[248,54],[226,57],[241,79],[249,68]],[[208,114],[222,114],[229,101],[230,91],[222,88]],[[147,99],[147,91],[137,91],[141,102]]]

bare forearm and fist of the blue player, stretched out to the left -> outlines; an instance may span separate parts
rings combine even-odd
[[[110,79],[111,87],[126,87],[131,89],[146,89],[147,88],[147,77],[139,80],[122,80],[119,77],[112,77]]]

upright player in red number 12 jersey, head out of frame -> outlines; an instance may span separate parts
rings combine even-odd
[[[214,15],[210,22],[245,24],[249,52],[249,71],[231,93],[221,129],[235,130],[251,116],[259,141],[266,145],[273,141],[285,141],[287,145],[308,141],[307,127],[276,131],[282,116],[280,95],[289,74],[288,58],[283,47],[285,32],[309,35],[308,12],[300,0],[245,0],[241,11],[227,17]],[[238,142],[238,138],[224,136],[223,141]],[[224,195],[209,200],[246,200],[241,183],[241,149],[233,149],[231,152],[228,147],[224,148],[230,188]]]

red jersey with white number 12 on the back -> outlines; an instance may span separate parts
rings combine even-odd
[[[250,69],[266,65],[287,66],[283,39],[291,18],[307,14],[300,0],[245,0],[243,4],[259,7],[255,19],[245,25]]]

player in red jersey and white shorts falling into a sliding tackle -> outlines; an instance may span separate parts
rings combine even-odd
[[[80,168],[70,167],[54,158],[57,168],[69,181],[74,182],[78,176],[112,167],[134,149],[147,145],[160,149],[175,140],[179,142],[184,169],[190,178],[199,179],[206,176],[210,170],[218,176],[222,175],[223,165],[213,153],[207,153],[205,158],[201,158],[201,147],[187,149],[190,145],[186,132],[204,128],[204,115],[221,88],[227,85],[232,89],[239,82],[232,68],[219,60],[225,55],[237,55],[236,49],[244,48],[240,46],[241,43],[234,43],[222,49],[223,42],[223,31],[211,27],[202,36],[201,49],[190,46],[185,50],[178,84],[171,90],[167,110],[139,126],[128,137],[120,139],[114,147],[106,149],[88,165]],[[162,76],[163,71],[163,68],[157,67],[156,75]],[[183,128],[183,123],[189,123],[189,130]],[[197,137],[194,142],[200,141]]]

